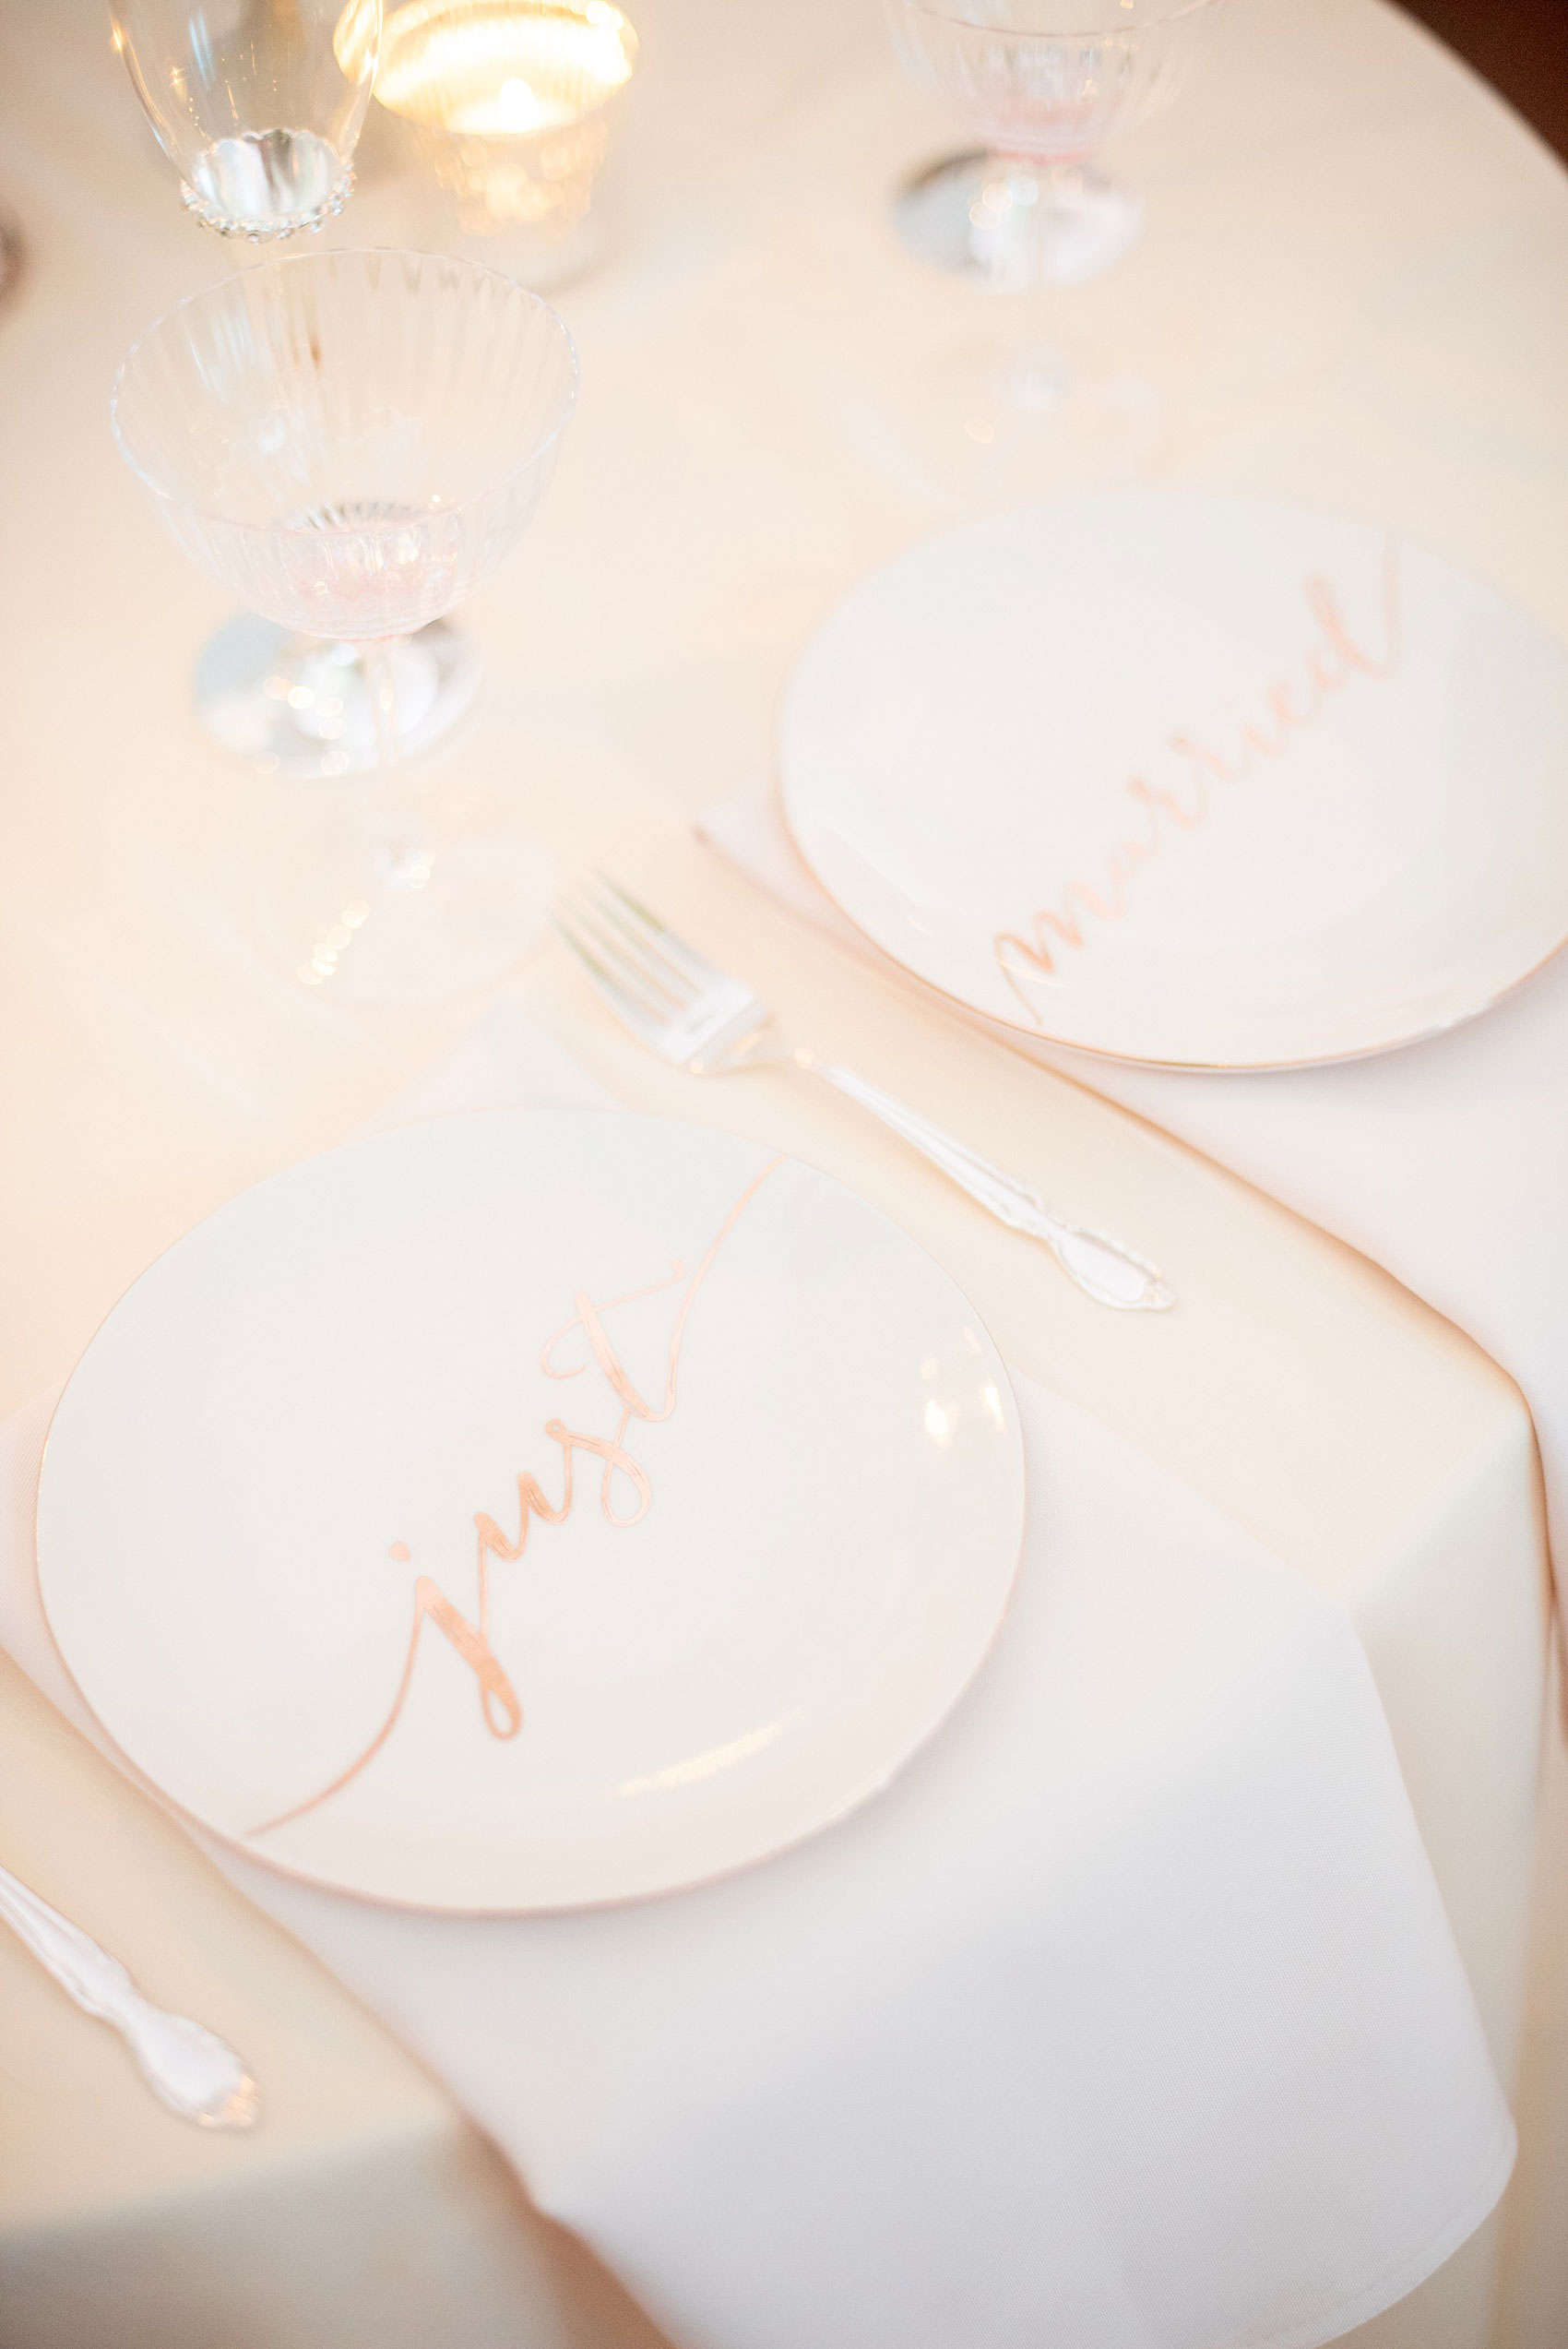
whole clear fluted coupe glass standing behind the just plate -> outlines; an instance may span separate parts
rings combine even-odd
[[[439,1003],[526,944],[526,841],[439,832],[406,789],[399,653],[526,529],[575,395],[538,294],[401,251],[263,261],[150,327],[115,378],[120,451],[192,561],[279,627],[359,648],[369,813],[265,890],[265,942],[307,987]]]

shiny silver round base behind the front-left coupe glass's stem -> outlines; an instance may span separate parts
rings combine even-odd
[[[432,620],[392,658],[401,752],[411,759],[467,714],[479,653],[446,620]],[[376,712],[352,644],[291,637],[246,613],[204,648],[195,705],[207,738],[261,775],[312,782],[376,766]]]

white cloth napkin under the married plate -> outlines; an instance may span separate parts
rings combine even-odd
[[[817,886],[770,782],[718,801],[699,832],[779,904],[894,968]],[[1467,1330],[1523,1388],[1554,1548],[1568,1560],[1568,954],[1483,1019],[1329,1069],[1190,1076],[1007,1034],[1359,1247]]]

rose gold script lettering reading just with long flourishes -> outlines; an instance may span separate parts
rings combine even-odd
[[[408,1630],[408,1647],[404,1651],[404,1672],[397,1684],[397,1694],[392,1698],[392,1708],[385,1722],[380,1724],[371,1743],[364,1748],[364,1752],[354,1755],[347,1769],[338,1771],[331,1785],[324,1785],[317,1795],[310,1795],[305,1802],[296,1802],[293,1809],[279,1811],[277,1818],[268,1818],[261,1828],[251,1828],[251,1835],[270,1835],[272,1828],[284,1828],[291,1818],[303,1818],[305,1811],[315,1811],[319,1804],[329,1802],[331,1795],[343,1792],[343,1788],[352,1778],[357,1778],[369,1762],[376,1759],[380,1748],[397,1729],[399,1715],[408,1698],[408,1689],[413,1684],[413,1665],[418,1663],[420,1635],[425,1630],[425,1623],[432,1623],[441,1633],[448,1647],[462,1658],[462,1663],[474,1675],[474,1684],[479,1689],[479,1715],[491,1736],[493,1738],[516,1736],[516,1731],[523,1727],[523,1708],[516,1701],[516,1689],[507,1680],[505,1665],[491,1649],[491,1560],[493,1557],[500,1557],[505,1562],[519,1560],[528,1548],[528,1529],[535,1517],[542,1525],[566,1525],[566,1520],[573,1513],[573,1496],[575,1496],[573,1459],[577,1452],[587,1452],[592,1459],[601,1461],[599,1506],[603,1508],[603,1515],[610,1520],[610,1525],[617,1527],[638,1525],[648,1515],[648,1510],[653,1508],[653,1487],[648,1482],[648,1470],[643,1468],[643,1463],[636,1461],[627,1449],[627,1433],[634,1419],[641,1419],[646,1426],[657,1426],[660,1421],[674,1414],[676,1381],[681,1369],[681,1344],[685,1339],[685,1322],[690,1318],[697,1290],[707,1280],[718,1250],[730,1238],[744,1210],[756,1198],[756,1193],[761,1191],[761,1186],[768,1182],[768,1177],[777,1165],[782,1165],[782,1160],[770,1158],[768,1165],[761,1170],[761,1174],[753,1174],[753,1179],[746,1184],[742,1196],[725,1214],[709,1252],[702,1257],[690,1280],[685,1280],[685,1266],[676,1261],[669,1278],[655,1280],[646,1290],[629,1290],[624,1297],[608,1297],[603,1299],[603,1304],[594,1304],[594,1299],[584,1290],[577,1290],[573,1294],[573,1306],[575,1306],[573,1318],[568,1322],[561,1322],[561,1327],[549,1339],[545,1339],[545,1348],[540,1353],[540,1369],[545,1372],[547,1379],[580,1379],[592,1365],[596,1365],[610,1393],[620,1402],[620,1421],[615,1426],[615,1433],[594,1435],[587,1433],[584,1428],[568,1428],[563,1419],[545,1421],[545,1435],[561,1452],[561,1501],[552,1503],[538,1478],[523,1470],[516,1480],[516,1541],[512,1541],[495,1522],[495,1517],[491,1517],[486,1510],[474,1513],[474,1534],[479,1536],[477,1621],[469,1623],[469,1618],[460,1614],[458,1607],[453,1607],[453,1602],[446,1597],[439,1583],[434,1583],[430,1574],[420,1574],[413,1586],[413,1626]],[[664,1393],[657,1400],[648,1400],[636,1391],[636,1386],[627,1377],[627,1369],[606,1330],[606,1315],[615,1313],[620,1306],[638,1304],[643,1297],[657,1297],[662,1290],[674,1290],[681,1283],[685,1283],[685,1290],[681,1297],[681,1311],[676,1313],[676,1325],[669,1337],[669,1353],[664,1358]],[[570,1337],[573,1330],[582,1332],[589,1360],[577,1362],[575,1369],[559,1369],[556,1348],[566,1337]],[[631,1506],[624,1508],[615,1506],[617,1480],[627,1489],[624,1496],[631,1501]],[[401,1564],[408,1560],[408,1546],[404,1541],[394,1541],[387,1555]]]

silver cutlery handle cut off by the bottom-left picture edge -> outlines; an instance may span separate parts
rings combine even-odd
[[[9,1867],[0,1867],[0,1917],[82,2013],[113,2022],[160,2105],[200,2128],[256,2123],[261,2098],[239,2055],[216,2032],[143,1999],[117,1957]]]

